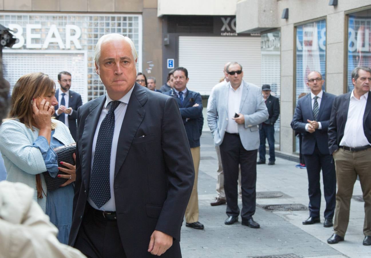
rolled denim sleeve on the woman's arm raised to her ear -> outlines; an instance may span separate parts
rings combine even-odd
[[[58,157],[55,151],[49,146],[49,142],[44,136],[39,136],[32,144],[33,147],[39,148],[45,162],[46,170],[51,177],[56,177],[58,173]]]

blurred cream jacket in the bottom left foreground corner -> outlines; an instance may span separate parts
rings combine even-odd
[[[34,190],[22,183],[0,182],[0,258],[81,258],[61,244],[57,228],[33,200]]]

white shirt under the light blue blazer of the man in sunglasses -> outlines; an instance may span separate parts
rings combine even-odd
[[[238,133],[238,124],[235,120],[232,119],[235,113],[239,113],[240,104],[242,98],[242,83],[241,85],[234,90],[229,84],[228,90],[228,124],[226,128],[227,133]]]

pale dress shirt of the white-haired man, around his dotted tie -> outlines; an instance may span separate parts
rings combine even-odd
[[[121,130],[121,125],[122,121],[124,120],[126,109],[128,107],[129,99],[131,96],[131,93],[133,91],[134,87],[129,90],[129,92],[119,99],[121,103],[116,107],[115,109],[115,129],[114,129],[114,135],[112,138],[112,146],[111,146],[111,161],[109,164],[109,188],[111,192],[111,199],[109,199],[102,207],[98,208],[95,203],[92,201],[90,198],[88,198],[89,204],[96,210],[104,210],[104,211],[110,211],[114,212],[116,211],[116,205],[115,205],[115,194],[114,194],[114,176],[115,176],[115,163],[116,163],[116,151],[117,151],[117,143],[118,143],[118,137],[120,135],[120,130]],[[95,145],[96,145],[96,139],[98,138],[98,132],[99,128],[101,127],[101,123],[105,116],[108,113],[109,108],[111,105],[108,105],[109,102],[113,101],[108,94],[106,94],[106,102],[104,103],[104,106],[102,108],[101,116],[99,117],[98,120],[98,125],[96,126],[95,129],[95,134],[93,138],[93,146],[92,146],[92,160],[91,160],[91,170],[90,173],[92,172],[93,169],[93,161],[94,161],[94,153],[95,153]],[[91,176],[90,176],[91,178]]]

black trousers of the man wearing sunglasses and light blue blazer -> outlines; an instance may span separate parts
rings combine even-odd
[[[241,165],[242,220],[249,220],[255,214],[256,206],[256,158],[257,149],[246,151],[240,136],[226,133],[220,145],[221,163],[224,173],[224,191],[227,199],[227,215],[239,216],[238,170]]]

